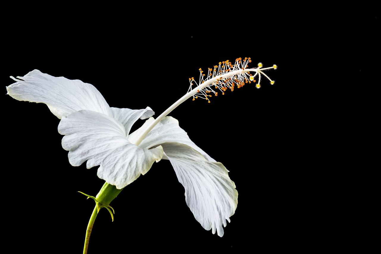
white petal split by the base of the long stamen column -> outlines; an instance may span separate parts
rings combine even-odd
[[[154,118],[151,117],[146,122],[144,122],[142,127],[130,134],[128,140],[130,140],[131,143],[135,143],[135,141],[138,140],[139,136],[153,121]],[[194,150],[201,153],[208,161],[216,162],[215,159],[211,158],[207,153],[205,153],[201,148],[193,143],[193,141],[188,137],[187,133],[180,128],[179,121],[171,116],[164,117],[162,121],[155,125],[154,129],[148,133],[148,135],[141,141],[139,146],[151,148],[166,142],[177,142],[191,146]]]

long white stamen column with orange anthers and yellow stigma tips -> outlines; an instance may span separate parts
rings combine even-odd
[[[166,117],[169,113],[171,113],[171,111],[173,109],[177,108],[177,106],[179,106],[181,103],[186,101],[188,98],[191,98],[192,96],[194,96],[196,94],[200,94],[200,91],[204,91],[204,93],[201,93],[201,95],[208,96],[208,95],[206,95],[205,91],[211,92],[212,91],[210,89],[211,86],[216,87],[216,89],[219,88],[219,90],[221,90],[221,91],[226,90],[226,86],[227,87],[230,86],[229,88],[231,90],[233,90],[234,84],[237,84],[237,86],[240,87],[239,84],[241,84],[241,82],[244,82],[244,80],[250,80],[250,81],[255,82],[255,80],[251,79],[250,77],[255,77],[257,74],[259,75],[259,79],[260,79],[259,72],[263,71],[264,69],[276,69],[276,65],[274,65],[273,67],[261,69],[261,67],[262,67],[261,63],[258,64],[258,68],[247,69],[246,63],[248,63],[248,62],[251,62],[250,58],[245,58],[245,60],[243,61],[243,64],[241,64],[241,58],[236,59],[235,65],[232,65],[229,61],[226,61],[226,62],[223,62],[225,65],[221,66],[221,62],[220,62],[219,66],[218,66],[219,74],[216,73],[217,66],[214,66],[215,68],[214,68],[213,74],[211,74],[211,69],[209,69],[208,77],[206,80],[203,80],[202,71],[201,71],[201,69],[199,69],[200,70],[200,80],[202,80],[200,82],[200,84],[197,85],[197,87],[195,87],[194,89],[192,89],[190,91],[188,90],[189,92],[187,92],[178,101],[173,103],[168,109],[166,109],[162,114],[160,114],[160,116],[158,116],[147,127],[147,129],[142,133],[142,135],[139,137],[139,139],[136,140],[135,145],[138,146],[141,143],[141,141],[147,136],[147,134],[155,127],[155,125],[158,124],[160,121],[162,121],[162,119],[164,117]],[[239,65],[237,65],[237,63]],[[229,66],[227,66],[227,65],[229,65]],[[234,69],[234,70],[231,71],[231,69]],[[254,76],[251,76],[251,74],[249,75],[250,71],[256,72],[256,74]],[[261,73],[263,74],[263,72],[261,72]],[[211,75],[209,75],[209,74],[211,74]],[[247,76],[248,79],[244,76]],[[267,77],[267,78],[271,82],[273,82],[269,77]],[[194,78],[189,79],[189,82],[191,83],[189,89],[191,89],[192,82],[195,82]],[[259,84],[259,82],[258,82],[258,84]],[[208,89],[205,90],[205,88],[208,88]],[[216,94],[217,94],[217,92],[215,93],[215,95]],[[197,96],[196,96],[196,98],[197,98]],[[210,101],[208,100],[208,102],[210,102]]]

